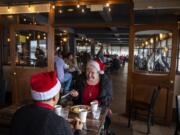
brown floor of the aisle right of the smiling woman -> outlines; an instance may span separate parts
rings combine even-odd
[[[127,118],[125,114],[126,87],[127,87],[127,65],[119,71],[112,73],[113,82],[113,111],[111,130],[116,135],[145,135],[146,123],[143,121],[133,121],[132,127],[127,128]],[[150,135],[174,135],[174,126],[166,127],[155,124],[151,127]]]

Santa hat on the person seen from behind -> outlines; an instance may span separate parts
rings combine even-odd
[[[34,100],[43,101],[53,98],[61,89],[56,72],[45,72],[31,78],[31,95]]]

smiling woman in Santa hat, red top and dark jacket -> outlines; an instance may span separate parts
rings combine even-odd
[[[71,92],[77,97],[76,104],[89,105],[97,100],[101,107],[109,107],[112,100],[112,84],[103,73],[102,63],[90,60],[86,66],[86,75],[82,75],[76,82],[75,90]]]

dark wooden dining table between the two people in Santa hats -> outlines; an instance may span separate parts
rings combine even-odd
[[[19,109],[19,105],[10,105],[8,107],[0,109],[0,127],[9,128],[13,114]],[[86,123],[83,124],[82,135],[100,135],[103,134],[103,128],[106,116],[108,114],[108,108],[103,109],[98,120],[93,118],[92,112],[87,114]],[[69,111],[68,119],[74,119],[78,117],[77,113]]]

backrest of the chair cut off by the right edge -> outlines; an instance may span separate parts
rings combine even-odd
[[[180,127],[180,95],[176,96],[176,124]]]

